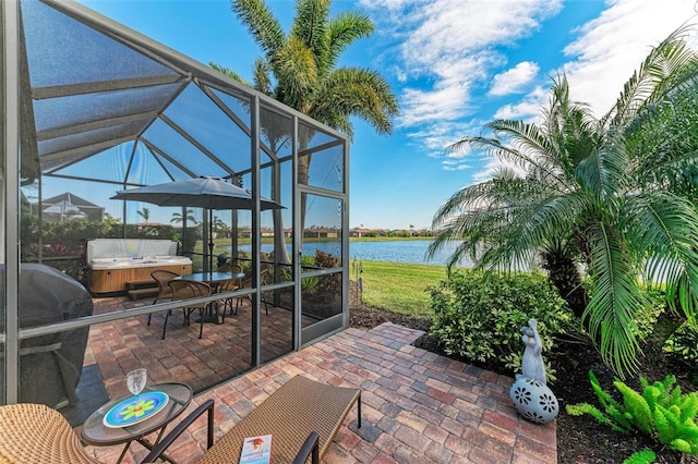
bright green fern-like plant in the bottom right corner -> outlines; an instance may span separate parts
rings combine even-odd
[[[614,430],[627,434],[637,429],[673,450],[698,455],[698,393],[682,394],[681,387],[673,387],[676,382],[674,376],[666,376],[664,381],[651,386],[647,379],[640,378],[642,394],[616,379],[613,384],[623,402],[605,392],[591,370],[589,379],[603,412],[580,403],[567,405],[567,414],[589,414]]]

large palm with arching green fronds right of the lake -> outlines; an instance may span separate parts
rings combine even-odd
[[[687,30],[650,52],[599,120],[570,100],[563,75],[540,124],[497,120],[484,126],[493,137],[453,145],[482,149],[507,167],[454,194],[432,224],[438,232],[430,256],[462,241],[449,268],[462,256],[489,271],[538,259],[621,376],[637,368],[642,274],[664,282],[671,307],[679,302],[695,322],[698,215],[685,193],[696,182],[676,175],[698,166],[698,141],[687,130],[698,123],[698,59],[685,47]]]

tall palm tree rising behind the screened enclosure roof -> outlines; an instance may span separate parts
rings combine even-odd
[[[374,30],[372,21],[358,12],[329,19],[330,0],[297,0],[289,34],[264,0],[232,0],[232,10],[263,51],[254,65],[252,86],[276,100],[322,122],[350,138],[350,117],[369,122],[380,134],[389,134],[397,115],[397,100],[377,73],[361,68],[336,68],[339,56],[354,40]],[[233,71],[212,66],[244,83]],[[278,142],[290,134],[268,134]],[[299,131],[300,150],[312,133]],[[302,156],[298,182],[308,184],[311,156]],[[301,195],[301,230],[305,225],[305,194]]]

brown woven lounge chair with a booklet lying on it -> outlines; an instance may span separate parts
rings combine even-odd
[[[309,456],[317,464],[354,403],[357,426],[361,427],[360,389],[334,387],[296,376],[236,424],[196,463],[238,463],[245,438],[270,435],[274,464],[304,463]],[[155,462],[194,420],[192,413],[153,448],[143,462]]]

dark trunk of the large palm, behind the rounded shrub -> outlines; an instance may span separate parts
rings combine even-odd
[[[546,251],[543,253],[542,266],[547,271],[547,279],[555,285],[575,316],[581,318],[589,297],[581,284],[581,273],[577,264],[563,253]]]

